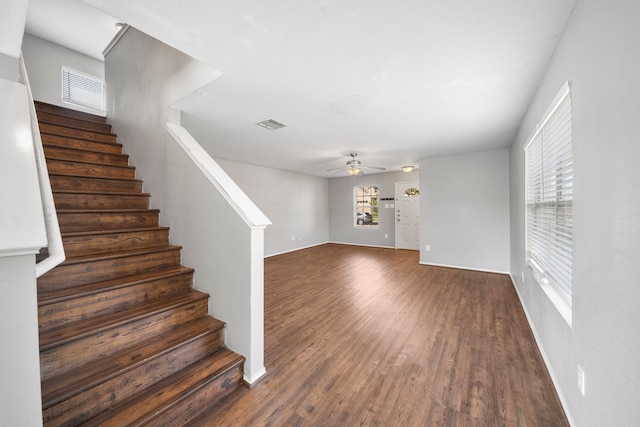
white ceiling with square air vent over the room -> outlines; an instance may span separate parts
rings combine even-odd
[[[509,146],[575,2],[31,0],[27,30],[88,52],[73,43],[126,22],[223,73],[181,102],[214,157],[329,176],[352,151],[399,170]],[[51,3],[96,24],[45,36]]]

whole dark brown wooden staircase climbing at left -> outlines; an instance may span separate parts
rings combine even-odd
[[[44,425],[184,425],[244,358],[105,118],[35,104],[67,256],[38,279]]]

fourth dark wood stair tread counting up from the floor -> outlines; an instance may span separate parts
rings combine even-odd
[[[180,274],[193,273],[193,271],[193,268],[179,266],[174,268],[155,270],[149,273],[120,276],[115,279],[102,280],[99,282],[89,283],[87,285],[76,286],[74,288],[58,289],[50,292],[39,292],[38,306],[45,306],[62,301],[68,301],[73,298],[95,295],[110,289],[135,286],[137,284],[144,283],[150,280],[177,276]]]

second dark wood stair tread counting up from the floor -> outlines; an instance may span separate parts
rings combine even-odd
[[[225,323],[205,316],[172,331],[150,338],[110,354],[108,360],[95,360],[78,366],[64,378],[50,378],[42,382],[43,408],[51,407],[125,371],[147,363],[201,336],[217,333]]]

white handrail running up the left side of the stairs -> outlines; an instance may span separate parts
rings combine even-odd
[[[58,224],[58,214],[53,201],[53,193],[51,192],[51,182],[49,181],[49,171],[47,162],[44,157],[44,148],[42,147],[42,138],[40,137],[40,126],[38,126],[38,117],[36,115],[35,105],[33,103],[33,94],[31,93],[31,85],[29,84],[29,76],[24,64],[24,59],[20,56],[20,80],[27,88],[27,96],[29,99],[29,112],[31,115],[31,133],[33,134],[33,146],[36,156],[36,166],[38,169],[38,182],[40,184],[40,199],[42,200],[42,210],[44,213],[45,227],[47,230],[48,256],[40,260],[36,264],[36,277],[42,276],[47,271],[61,264],[65,260],[64,247],[62,245],[62,236],[60,234],[60,225]]]

